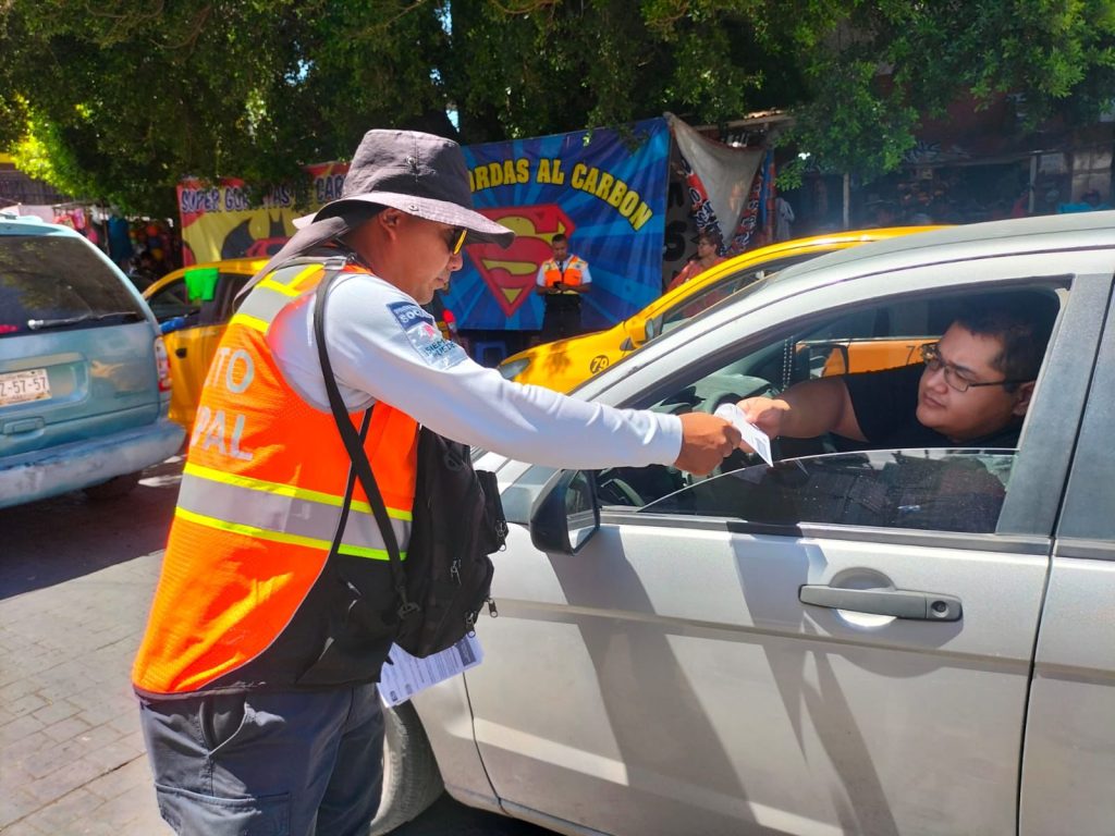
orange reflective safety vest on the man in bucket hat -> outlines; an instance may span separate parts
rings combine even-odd
[[[332,412],[290,387],[265,340],[279,312],[308,303],[326,269],[341,269],[336,262],[273,271],[229,322],[205,380],[133,669],[140,694],[379,678],[396,606],[379,526],[357,482],[338,554],[329,557],[349,457]],[[365,415],[352,416],[358,428]],[[406,550],[417,426],[386,404],[371,415],[365,450]]]

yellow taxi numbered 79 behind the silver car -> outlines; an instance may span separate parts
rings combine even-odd
[[[500,372],[520,383],[536,383],[568,392],[661,334],[663,330],[697,315],[767,273],[869,241],[882,241],[933,229],[938,227],[900,226],[836,232],[753,250],[728,259],[663,293],[641,311],[607,331],[546,342],[512,354],[500,363]]]

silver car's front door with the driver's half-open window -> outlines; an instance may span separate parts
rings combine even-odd
[[[1072,288],[1020,450],[988,463],[1007,465],[995,513],[967,529],[947,513],[909,528],[863,514],[787,524],[719,504],[682,514],[680,502],[665,513],[634,502],[605,506],[600,531],[566,555],[539,552],[513,526],[493,589],[501,618],[484,625],[485,663],[466,674],[504,806],[610,834],[1014,833],[1050,509],[1068,457],[1040,439],[1084,397],[1083,383],[1047,395],[1056,385],[1045,381],[1095,356],[1103,309],[1082,289],[1109,285],[1067,266],[1004,259],[856,283],[860,304],[1040,275]],[[721,392],[744,393],[724,388],[718,368],[780,354],[849,304],[846,289],[821,288],[740,317],[730,334],[697,332],[688,367],[636,368],[617,397],[677,404],[671,387],[712,380],[692,405],[710,408]],[[546,468],[501,478],[517,522],[552,482]],[[911,593],[923,616],[865,612],[857,599],[870,591]],[[937,618],[938,605],[958,618]]]

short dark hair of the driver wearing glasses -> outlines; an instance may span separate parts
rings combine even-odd
[[[1002,350],[991,366],[1007,380],[1034,380],[1053,334],[1058,303],[1046,294],[980,301],[960,313],[956,323],[979,337],[993,337]],[[1005,387],[1015,391],[1017,383]]]

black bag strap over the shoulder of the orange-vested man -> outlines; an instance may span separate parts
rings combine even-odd
[[[333,378],[333,368],[329,362],[329,349],[326,347],[326,300],[329,297],[329,288],[338,275],[340,275],[339,270],[328,271],[314,290],[313,333],[318,341],[318,359],[321,362],[321,373],[326,381],[326,393],[329,396],[329,408],[332,409],[337,429],[340,430],[341,440],[348,450],[352,467],[360,479],[360,485],[363,486],[363,493],[368,496],[368,504],[371,505],[376,523],[379,525],[384,543],[387,545],[387,555],[391,564],[391,579],[395,582],[395,591],[401,602],[398,615],[403,620],[418,612],[420,607],[407,597],[407,575],[403,568],[403,558],[399,556],[399,543],[395,538],[395,528],[391,527],[391,519],[387,515],[384,497],[379,493],[379,485],[376,484],[376,476],[372,474],[371,464],[368,461],[368,456],[360,444],[359,434],[356,427],[352,426],[340,390],[337,388],[337,380]],[[368,410],[368,418],[370,418],[371,409],[374,408],[375,405]],[[347,514],[342,509],[342,522],[346,518]]]

